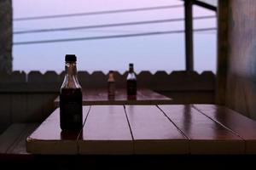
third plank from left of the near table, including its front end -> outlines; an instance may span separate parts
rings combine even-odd
[[[135,154],[187,154],[188,140],[155,105],[125,105]]]

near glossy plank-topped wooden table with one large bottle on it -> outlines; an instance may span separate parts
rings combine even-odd
[[[84,127],[63,133],[56,109],[30,137],[33,154],[255,154],[256,122],[218,105],[84,106]]]

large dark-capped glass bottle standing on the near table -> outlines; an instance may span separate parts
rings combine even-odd
[[[83,95],[77,77],[77,57],[67,54],[65,61],[65,78],[60,94],[61,129],[79,131],[83,127]]]

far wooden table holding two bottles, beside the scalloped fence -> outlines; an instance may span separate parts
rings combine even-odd
[[[60,99],[55,99],[59,106]],[[149,89],[138,89],[137,99],[127,99],[125,89],[116,89],[114,98],[108,98],[107,89],[84,89],[83,105],[168,105],[172,99]]]

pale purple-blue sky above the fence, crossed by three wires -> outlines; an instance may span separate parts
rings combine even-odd
[[[73,14],[122,8],[145,8],[183,4],[179,0],[13,0],[14,18],[51,14]],[[204,8],[194,7],[194,15],[214,15]],[[183,17],[183,8],[169,8],[122,14],[90,15],[54,20],[15,21],[14,30],[23,31],[66,26],[90,26],[142,20],[165,20]],[[194,28],[215,27],[216,20],[196,20]],[[95,37],[148,31],[183,30],[183,21],[143,26],[109,27],[79,31],[59,31],[15,35],[14,42],[45,39]],[[171,72],[184,69],[184,36],[170,34],[152,37],[129,37],[82,42],[61,42],[14,47],[14,69],[22,71],[57,71],[64,69],[65,54],[78,56],[78,68],[83,71],[124,72],[130,62],[137,71]],[[27,61],[30,60],[29,64]],[[216,32],[195,33],[195,70],[215,71]]]

